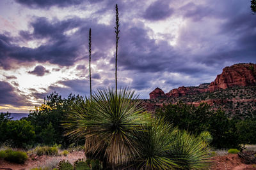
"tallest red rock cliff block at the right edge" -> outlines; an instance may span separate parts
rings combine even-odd
[[[256,64],[234,64],[223,69],[209,85],[209,91],[248,85],[256,85]]]

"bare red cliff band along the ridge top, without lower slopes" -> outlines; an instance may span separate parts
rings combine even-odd
[[[256,64],[234,64],[225,67],[221,74],[211,83],[203,83],[198,87],[179,87],[172,89],[164,94],[163,90],[158,87],[150,92],[150,99],[181,97],[186,95],[195,95],[202,92],[214,92],[220,89],[227,89],[234,86],[250,86],[256,85]]]

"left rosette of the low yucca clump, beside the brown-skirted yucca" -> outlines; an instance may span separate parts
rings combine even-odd
[[[137,155],[134,156],[130,167],[134,169],[175,169],[179,168],[170,157],[170,139],[177,133],[177,128],[161,119],[148,122],[141,131],[134,134]]]

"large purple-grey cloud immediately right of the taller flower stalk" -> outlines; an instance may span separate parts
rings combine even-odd
[[[118,66],[122,66],[122,69],[141,73],[200,71],[200,68],[191,66],[190,60],[170,46],[167,41],[150,38],[149,30],[143,27],[143,24],[130,29],[125,29],[126,27],[126,25],[122,27],[124,31],[120,38],[118,57]]]

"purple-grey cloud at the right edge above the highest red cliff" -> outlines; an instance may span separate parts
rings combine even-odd
[[[219,50],[204,57],[198,57],[205,64],[223,63],[225,61],[256,62],[256,22],[254,15],[241,13],[230,17],[221,25],[220,34],[228,36],[230,41],[226,46],[220,46]]]

